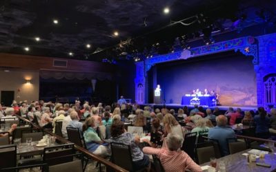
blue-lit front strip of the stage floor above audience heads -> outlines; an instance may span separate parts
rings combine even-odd
[[[153,107],[153,108],[160,108],[160,107],[163,107],[164,105],[163,104],[155,104],[155,103],[148,103],[148,104],[140,104],[142,107],[144,106],[150,106],[150,107]],[[184,106],[187,106],[189,109],[193,109],[193,105],[180,105],[180,104],[166,104],[166,107],[168,109],[175,109],[175,108],[183,108]],[[207,109],[207,108],[210,108],[210,109],[215,109],[215,107],[218,107],[219,110],[223,110],[223,111],[226,111],[228,110],[228,108],[230,106],[214,106],[214,107],[208,107],[208,106],[202,106],[204,107],[204,109]],[[237,109],[237,107],[234,107],[232,106],[234,109]],[[248,106],[248,107],[239,107],[242,109],[242,111],[250,111],[250,110],[253,110],[253,111],[257,111],[257,107],[255,106]]]

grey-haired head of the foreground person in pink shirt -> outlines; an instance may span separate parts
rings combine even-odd
[[[166,142],[170,151],[177,151],[182,146],[183,138],[176,133],[168,133]]]

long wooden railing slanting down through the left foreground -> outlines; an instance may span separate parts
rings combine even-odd
[[[34,128],[36,129],[41,129],[43,130],[45,133],[48,133],[50,134],[51,136],[55,136],[59,141],[63,142],[63,143],[72,143],[68,140],[66,140],[65,138],[62,138],[61,136],[57,136],[56,134],[50,132],[50,131],[47,131],[46,129],[43,129],[42,127],[40,127],[39,125],[36,125],[35,123],[33,122],[30,122],[30,120],[27,120],[26,118],[23,118],[21,116],[18,116],[18,115],[15,115],[17,116],[19,119],[25,121],[25,122],[28,122],[30,123],[30,125],[32,125]],[[84,149],[83,147],[79,147],[78,145],[75,144],[75,149],[77,149],[77,151],[81,152],[81,153],[85,153],[86,155],[88,155],[92,160],[95,160],[97,162],[100,162],[101,164],[104,164],[106,166],[108,166],[110,169],[113,169],[115,171],[121,171],[121,172],[127,172],[127,170],[121,168],[120,166],[117,166],[116,164],[113,164],[112,162],[104,159],[104,158],[101,158],[100,156],[98,155],[95,155],[93,153],[91,153],[90,151],[88,151],[87,149]]]

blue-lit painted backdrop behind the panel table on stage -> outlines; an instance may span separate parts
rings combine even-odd
[[[257,105],[252,57],[235,52],[157,65],[157,84],[166,103],[181,103],[193,89],[215,90],[221,105]]]

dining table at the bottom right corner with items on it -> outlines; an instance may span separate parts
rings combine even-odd
[[[222,158],[217,159],[217,164],[224,162],[226,171],[276,171],[276,154],[274,152],[269,152],[264,155],[264,158],[256,158],[256,162],[270,164],[270,168],[264,166],[258,166],[256,162],[248,162],[247,154],[248,151],[252,149],[246,149],[245,151],[240,151],[232,155],[226,155]],[[210,166],[210,162],[206,162],[200,165]]]

